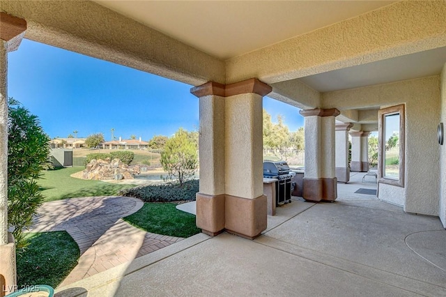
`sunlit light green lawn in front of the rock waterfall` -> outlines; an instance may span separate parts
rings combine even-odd
[[[38,185],[45,196],[45,202],[89,196],[117,195],[119,190],[133,188],[134,185],[119,183],[105,183],[104,181],[88,181],[73,178],[74,174],[83,170],[83,167],[62,168],[43,171]]]

